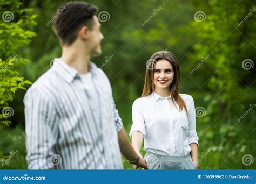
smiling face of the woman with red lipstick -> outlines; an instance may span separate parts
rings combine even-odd
[[[167,60],[157,61],[154,69],[154,86],[155,90],[169,89],[174,76],[172,65]]]

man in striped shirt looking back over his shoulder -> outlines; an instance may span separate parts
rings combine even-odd
[[[29,169],[123,169],[120,153],[147,169],[127,138],[109,80],[90,62],[102,53],[96,11],[69,2],[56,13],[62,56],[24,97]]]

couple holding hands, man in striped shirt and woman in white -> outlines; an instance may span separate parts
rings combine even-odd
[[[69,2],[56,13],[62,56],[24,97],[29,169],[123,169],[121,154],[134,168],[196,169],[194,103],[179,94],[176,58],[166,51],[151,57],[142,98],[132,107],[131,145],[110,82],[90,61],[102,53],[96,11]]]

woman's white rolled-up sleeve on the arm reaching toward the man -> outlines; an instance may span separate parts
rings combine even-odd
[[[132,128],[129,133],[130,137],[132,137],[132,133],[134,131],[139,131],[144,136],[146,135],[144,116],[142,109],[140,108],[138,99],[132,104]]]

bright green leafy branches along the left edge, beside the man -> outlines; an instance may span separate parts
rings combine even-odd
[[[1,1],[0,13],[6,15],[2,17],[0,23],[0,109],[8,107],[15,97],[15,92],[18,89],[24,88],[25,84],[31,84],[30,81],[24,80],[24,77],[19,75],[17,68],[22,67],[28,59],[22,58],[19,52],[21,48],[28,45],[35,32],[26,30],[26,28],[34,24],[36,15],[28,15],[31,9],[21,9],[21,3],[18,1]],[[7,13],[7,14],[4,14]],[[12,21],[15,19],[15,21]],[[1,125],[9,125],[10,121],[5,114],[0,116]]]

